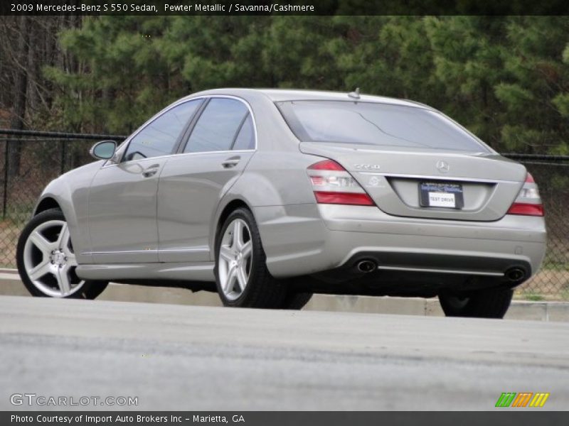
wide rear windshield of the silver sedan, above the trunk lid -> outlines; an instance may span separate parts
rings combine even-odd
[[[300,141],[489,152],[461,126],[430,109],[343,101],[278,102],[277,107]]]

